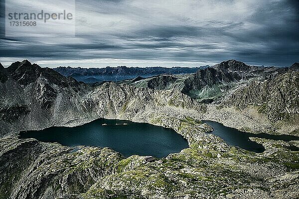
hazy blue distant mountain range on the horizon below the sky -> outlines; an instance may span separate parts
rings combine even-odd
[[[78,81],[85,83],[95,83],[101,81],[121,81],[125,79],[133,79],[140,77],[151,77],[161,74],[177,75],[194,73],[199,69],[206,68],[206,66],[188,68],[188,67],[106,67],[106,68],[72,68],[72,67],[57,67],[53,68],[64,76],[74,77]]]

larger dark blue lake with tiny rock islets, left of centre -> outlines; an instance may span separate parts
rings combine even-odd
[[[126,120],[98,119],[72,128],[50,127],[40,131],[24,131],[20,132],[19,137],[58,142],[70,147],[110,147],[125,157],[136,154],[162,158],[189,147],[187,140],[172,129]]]

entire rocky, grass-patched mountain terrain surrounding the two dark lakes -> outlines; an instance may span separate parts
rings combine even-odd
[[[298,136],[298,63],[277,68],[228,60],[196,71],[55,70],[28,60],[0,65],[0,199],[299,197],[299,152],[290,150],[298,142],[252,138],[265,147],[256,154],[207,136],[212,129],[200,122]],[[112,71],[127,80],[115,79]],[[100,73],[114,81],[75,79]],[[145,164],[144,157],[125,159],[109,148],[86,146],[72,152],[71,147],[17,135],[98,118],[172,128],[190,148]]]

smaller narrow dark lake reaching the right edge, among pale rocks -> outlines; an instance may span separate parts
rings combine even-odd
[[[239,131],[234,128],[223,126],[218,122],[213,121],[202,121],[207,123],[211,127],[213,127],[214,131],[209,132],[220,138],[222,138],[228,145],[237,146],[242,149],[246,149],[248,151],[253,151],[256,153],[262,153],[265,151],[263,145],[253,142],[249,139],[249,137],[256,138],[266,138],[269,140],[283,140],[283,141],[291,141],[291,140],[299,140],[297,136],[291,135],[271,135],[266,133],[253,134]],[[298,147],[289,147],[291,151],[297,151]]]

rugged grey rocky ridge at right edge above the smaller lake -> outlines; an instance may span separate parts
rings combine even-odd
[[[223,103],[241,110],[255,105],[271,121],[294,121],[299,114],[299,73],[289,71],[273,79],[254,81],[237,88]]]

